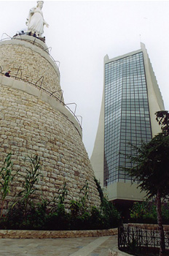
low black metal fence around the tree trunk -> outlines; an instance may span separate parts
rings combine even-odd
[[[169,229],[165,229],[165,249],[169,249]],[[157,228],[130,227],[128,225],[119,227],[118,247],[122,251],[139,251],[144,248],[154,252],[160,248],[160,231]]]

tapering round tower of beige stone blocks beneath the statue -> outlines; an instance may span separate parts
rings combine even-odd
[[[24,172],[23,157],[38,154],[43,197],[68,188],[67,206],[79,200],[80,189],[89,184],[89,206],[100,206],[93,168],[82,142],[82,128],[63,101],[60,72],[47,45],[28,34],[0,42],[0,162],[9,152],[17,170]],[[11,77],[4,72],[11,70]],[[8,200],[20,191],[15,178]]]

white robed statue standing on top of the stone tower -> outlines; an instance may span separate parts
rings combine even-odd
[[[44,1],[37,1],[37,6],[31,8],[28,18],[26,19],[28,32],[32,32],[32,34],[34,34],[36,31],[36,36],[39,35],[39,37],[42,37],[42,34],[44,33],[44,25],[46,25],[47,28],[49,27],[47,22],[44,20],[42,13],[43,4]]]

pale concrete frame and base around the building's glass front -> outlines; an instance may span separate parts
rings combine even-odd
[[[149,97],[149,111],[152,123],[152,136],[157,135],[161,132],[160,126],[156,121],[155,113],[159,110],[165,110],[164,103],[162,100],[162,95],[160,93],[159,86],[157,85],[157,80],[155,78],[152,64],[149,60],[149,56],[146,52],[145,45],[141,43],[141,49],[135,50],[132,53],[127,53],[123,56],[116,57],[114,59],[109,59],[109,56],[105,56],[104,65],[111,61],[124,58],[125,56],[130,56],[135,53],[143,51],[144,53],[144,65],[146,71],[146,83],[148,89]],[[90,162],[93,166],[95,176],[100,181],[101,187],[103,187],[103,172],[104,172],[104,87],[103,83],[103,98],[101,104],[101,113],[98,124],[98,131],[95,138],[95,145],[93,148],[93,154],[91,156]],[[130,183],[114,183],[109,185],[107,188],[107,195],[109,200],[124,199],[124,200],[143,200],[145,197],[145,192],[141,192],[137,189],[137,184],[131,185]]]

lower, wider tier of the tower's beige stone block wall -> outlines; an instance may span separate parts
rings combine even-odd
[[[47,102],[18,89],[1,85],[0,102],[0,162],[12,152],[12,161],[17,170],[24,165],[24,157],[38,154],[44,176],[39,189],[42,189],[45,198],[52,200],[66,181],[68,199],[78,200],[80,189],[87,180],[90,204],[98,206],[100,200],[93,180],[93,169],[74,124]],[[24,166],[21,172],[24,174]],[[15,179],[9,200],[20,189],[20,181]]]

